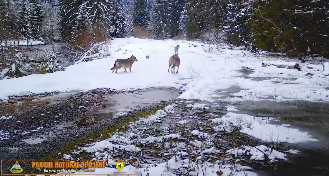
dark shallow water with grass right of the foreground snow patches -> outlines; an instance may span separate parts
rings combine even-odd
[[[231,97],[231,93],[239,92],[238,86],[217,90],[216,94]],[[280,163],[273,168],[262,167],[261,175],[328,175],[329,165],[326,161],[329,156],[329,104],[309,101],[215,101],[221,106],[233,105],[239,110],[237,114],[248,114],[258,117],[274,117],[279,124],[290,124],[291,128],[309,132],[317,142],[281,143],[299,150],[298,155],[290,155],[288,163]],[[257,168],[254,166],[254,168]]]

